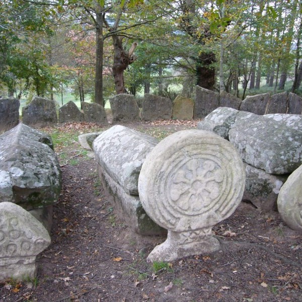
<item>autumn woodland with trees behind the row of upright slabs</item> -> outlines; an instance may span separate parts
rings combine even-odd
[[[2,0],[0,95],[302,95],[301,15],[298,0]]]

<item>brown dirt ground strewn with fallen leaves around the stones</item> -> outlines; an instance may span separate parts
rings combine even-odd
[[[196,122],[128,126],[162,135]],[[165,238],[132,233],[105,197],[91,154],[77,156],[80,148],[74,141],[56,149],[77,162],[60,160],[52,243],[38,258],[37,278],[1,282],[0,301],[302,301],[302,236],[277,212],[242,202],[213,227],[221,251],[152,265],[146,257]]]

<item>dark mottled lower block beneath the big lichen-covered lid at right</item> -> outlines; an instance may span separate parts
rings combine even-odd
[[[245,164],[245,167],[246,185],[243,199],[249,200],[257,208],[276,211],[278,194],[287,176],[268,174],[248,164]]]

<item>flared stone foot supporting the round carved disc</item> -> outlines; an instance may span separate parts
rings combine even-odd
[[[147,257],[147,262],[175,261],[182,257],[209,254],[220,250],[220,244],[211,236],[211,228],[176,233],[168,231],[167,240]]]

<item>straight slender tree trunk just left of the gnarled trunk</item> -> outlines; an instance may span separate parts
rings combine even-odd
[[[95,102],[104,106],[103,101],[103,13],[96,14],[96,70],[95,70]]]

